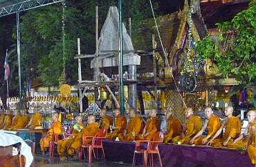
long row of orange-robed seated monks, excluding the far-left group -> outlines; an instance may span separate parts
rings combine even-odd
[[[150,140],[155,132],[161,130],[161,121],[156,116],[156,110],[149,111],[149,117],[145,124],[143,119],[136,114],[134,109],[129,110],[129,119],[120,115],[120,110],[114,110],[115,117],[112,119],[102,109],[100,115],[102,119],[99,123],[95,122],[95,117],[90,115],[88,124],[82,123],[82,117],[76,117],[76,124],[73,126],[72,135],[67,139],[57,141],[57,153],[61,157],[74,155],[82,145],[83,136],[93,136],[100,128],[111,129],[107,133],[107,139],[116,139],[121,141]],[[182,126],[181,121],[173,116],[172,111],[165,112],[167,121],[167,130],[165,132],[164,142],[174,144],[196,144],[209,145],[213,147],[230,147],[244,149],[248,151],[251,162],[255,164],[255,110],[248,111],[249,124],[246,130],[241,134],[241,122],[238,117],[232,116],[233,108],[228,106],[225,110],[225,119],[220,119],[213,114],[212,108],[205,108],[207,117],[202,126],[201,117],[194,115],[192,108],[185,110],[185,123]],[[58,121],[58,115],[53,115],[53,124],[48,130],[46,136],[40,141],[40,146],[44,152],[53,139],[53,134],[63,132],[62,124]],[[225,129],[223,135],[221,133]],[[203,132],[207,131],[207,135]]]

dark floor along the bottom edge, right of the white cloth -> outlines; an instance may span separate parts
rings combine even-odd
[[[95,161],[93,160],[92,164],[88,164],[86,160],[84,161],[60,161],[59,157],[53,157],[49,159],[48,156],[44,155],[35,155],[34,157],[34,167],[80,167],[80,166],[89,166],[89,167],[119,167],[119,166],[131,166],[131,164],[122,164],[121,162],[113,161]]]

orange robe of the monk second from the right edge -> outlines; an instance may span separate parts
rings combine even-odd
[[[225,124],[225,133],[223,135],[222,139],[214,139],[212,141],[212,146],[214,147],[222,147],[223,141],[228,139],[228,137],[231,137],[231,139],[228,141],[227,147],[230,145],[232,146],[232,142],[234,139],[239,137],[241,133],[241,122],[239,118],[237,117],[230,117]]]

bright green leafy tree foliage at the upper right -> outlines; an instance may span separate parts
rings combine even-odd
[[[217,24],[218,38],[205,37],[196,43],[196,52],[203,59],[212,59],[225,77],[241,83],[256,78],[256,1],[236,14],[232,21]]]

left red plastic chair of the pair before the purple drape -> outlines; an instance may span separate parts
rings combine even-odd
[[[135,166],[136,163],[136,154],[143,154],[143,166],[147,167],[147,148],[143,148],[142,144],[147,143],[148,140],[137,140],[135,141],[135,150],[134,150],[134,160],[132,161],[132,166]]]

